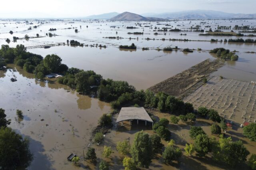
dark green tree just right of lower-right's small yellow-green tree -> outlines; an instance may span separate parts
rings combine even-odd
[[[198,134],[195,139],[196,155],[203,157],[212,151],[211,139],[206,134]]]

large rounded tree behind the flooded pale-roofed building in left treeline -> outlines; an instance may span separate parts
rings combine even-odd
[[[44,57],[44,67],[46,67],[50,72],[57,73],[61,65],[62,59],[56,55],[46,55]]]

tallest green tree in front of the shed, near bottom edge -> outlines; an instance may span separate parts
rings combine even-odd
[[[149,167],[153,152],[152,143],[147,133],[140,131],[135,134],[131,155],[138,166],[143,168]]]

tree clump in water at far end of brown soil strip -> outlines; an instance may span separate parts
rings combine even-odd
[[[231,60],[231,61],[238,60],[238,55],[235,55],[235,53],[230,52],[229,49],[214,48],[210,51],[210,53],[215,53],[218,58],[221,58],[224,60]]]

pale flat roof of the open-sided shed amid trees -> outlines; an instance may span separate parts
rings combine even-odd
[[[116,123],[131,119],[138,119],[153,123],[151,117],[148,115],[144,107],[122,107],[118,118],[116,119]]]

